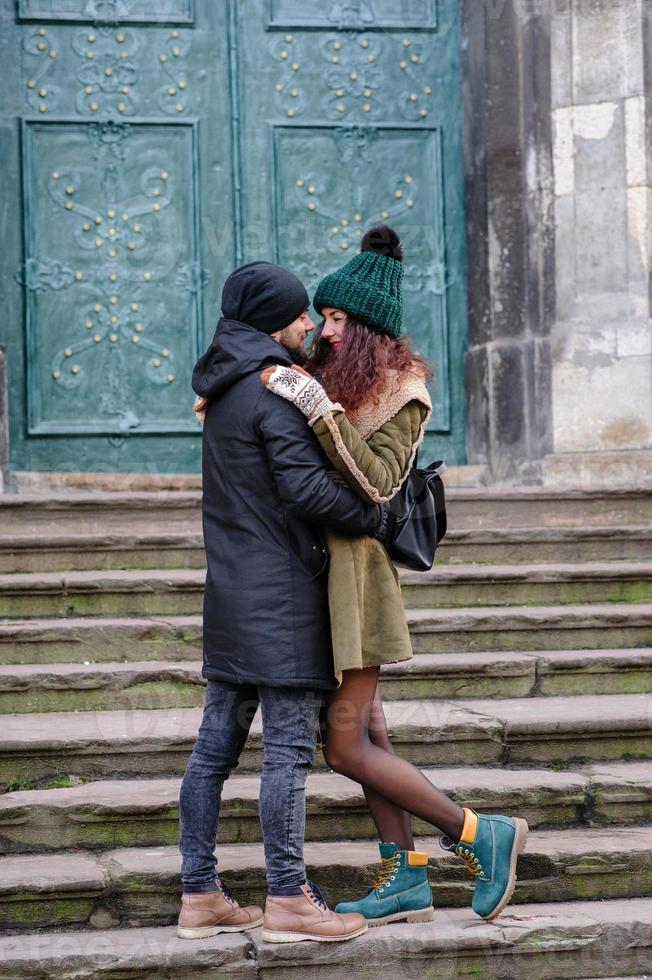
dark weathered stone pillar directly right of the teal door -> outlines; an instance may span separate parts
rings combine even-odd
[[[552,451],[550,15],[535,6],[461,0],[467,462],[494,484],[542,482]]]

